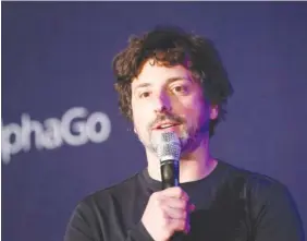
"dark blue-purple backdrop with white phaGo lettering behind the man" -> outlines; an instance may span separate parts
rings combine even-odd
[[[146,165],[111,60],[177,24],[216,43],[235,93],[216,157],[285,183],[307,228],[306,2],[2,2],[2,240],[62,240],[77,201]]]

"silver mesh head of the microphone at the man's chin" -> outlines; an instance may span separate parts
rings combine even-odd
[[[177,135],[173,132],[165,132],[159,135],[157,140],[157,155],[160,161],[180,160],[181,142]]]

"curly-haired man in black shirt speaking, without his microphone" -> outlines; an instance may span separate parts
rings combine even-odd
[[[205,38],[176,27],[133,37],[113,61],[122,112],[133,121],[148,167],[83,200],[65,241],[303,241],[299,216],[278,181],[209,154],[232,94]],[[181,142],[181,186],[161,190],[155,140]]]

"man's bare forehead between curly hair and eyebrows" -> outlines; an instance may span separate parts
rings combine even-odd
[[[191,80],[189,70],[183,65],[163,67],[148,60],[143,65],[138,76],[133,80],[132,85],[143,82],[158,84],[159,82],[179,77]]]

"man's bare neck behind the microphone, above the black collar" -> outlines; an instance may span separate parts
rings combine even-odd
[[[148,173],[155,179],[161,181],[160,161],[157,156],[146,152],[148,159]],[[182,156],[180,160],[180,182],[192,182],[206,178],[214,170],[218,161],[209,154],[208,142],[204,141],[193,152]]]

